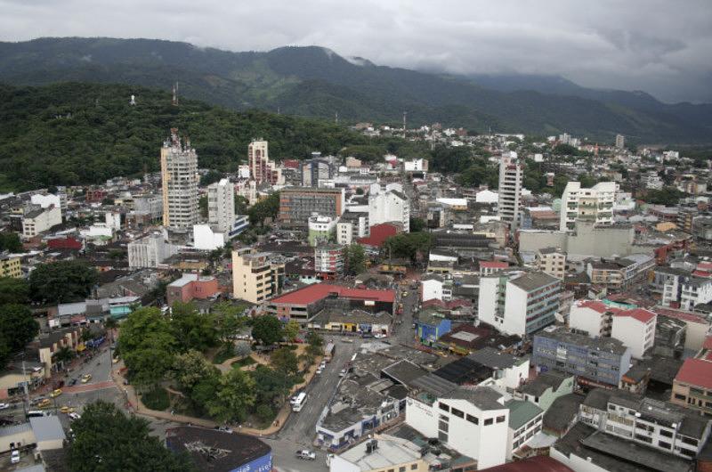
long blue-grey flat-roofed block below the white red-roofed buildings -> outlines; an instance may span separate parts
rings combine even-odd
[[[630,367],[630,348],[618,339],[588,338],[550,327],[534,336],[532,362],[539,372],[575,375],[581,386],[617,388]]]

